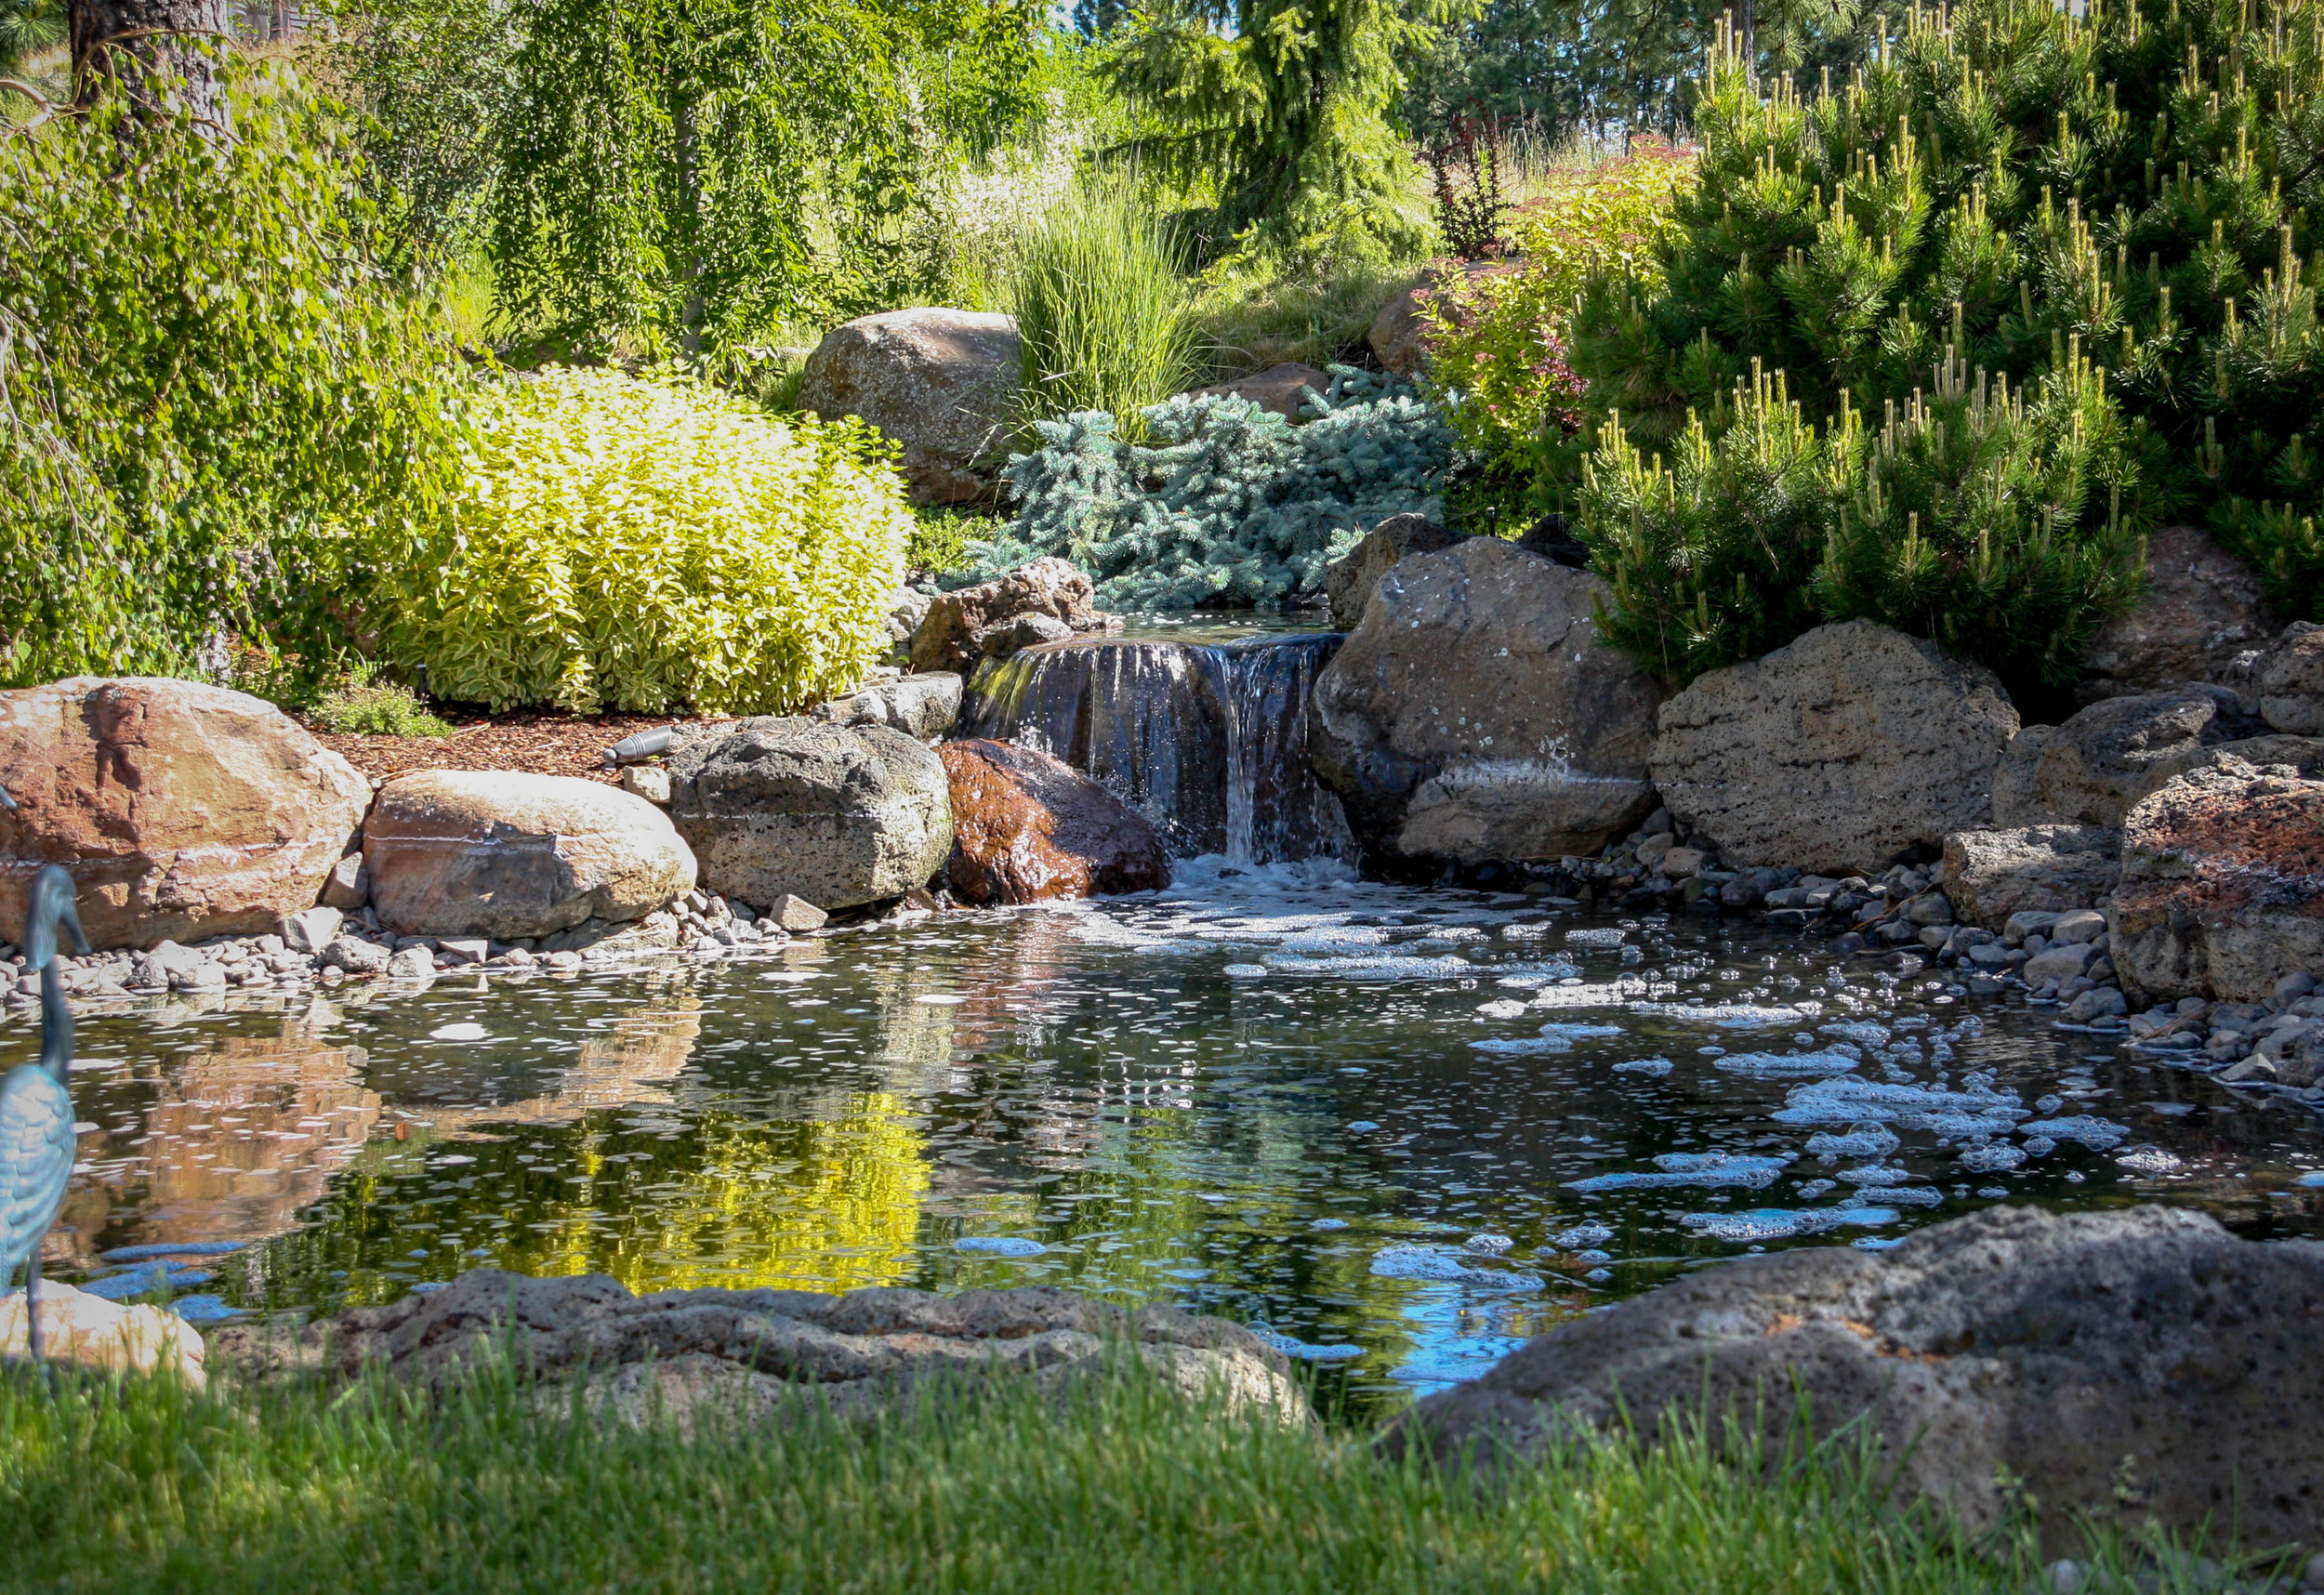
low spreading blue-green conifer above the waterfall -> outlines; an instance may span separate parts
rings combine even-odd
[[[1041,421],[1043,446],[1009,460],[1018,514],[978,574],[1055,553],[1113,609],[1262,605],[1315,593],[1373,523],[1443,514],[1457,451],[1408,388],[1334,367],[1304,425],[1236,398],[1143,412],[1148,444],[1113,416]]]

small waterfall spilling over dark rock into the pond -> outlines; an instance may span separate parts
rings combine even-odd
[[[1062,758],[1153,821],[1176,858],[1353,858],[1306,760],[1308,695],[1339,644],[1048,642],[976,670],[960,735]]]

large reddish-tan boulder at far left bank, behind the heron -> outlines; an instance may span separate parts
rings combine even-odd
[[[274,704],[202,681],[74,677],[0,693],[0,937],[65,865],[95,946],[267,935],[314,907],[372,802]]]

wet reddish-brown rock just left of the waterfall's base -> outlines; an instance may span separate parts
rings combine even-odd
[[[1146,816],[1060,758],[1006,742],[937,749],[953,793],[946,879],[967,902],[1041,902],[1169,886]]]

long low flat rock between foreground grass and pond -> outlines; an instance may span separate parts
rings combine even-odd
[[[253,1374],[325,1372],[432,1386],[507,1339],[516,1365],[555,1388],[583,1372],[597,1402],[637,1421],[683,1423],[716,1409],[779,1416],[823,1402],[876,1416],[932,1381],[1023,1376],[1055,1390],[1099,1374],[1113,1346],[1188,1397],[1206,1388],[1229,1409],[1311,1423],[1290,1365],[1250,1330],[1174,1307],[1127,1311],[1067,1290],[660,1290],[630,1295],[609,1274],[528,1279],[460,1274],[430,1295],[360,1307],[302,1330],[228,1325],[218,1356]],[[676,1400],[669,1400],[676,1397]],[[555,1400],[555,1397],[551,1397]]]

